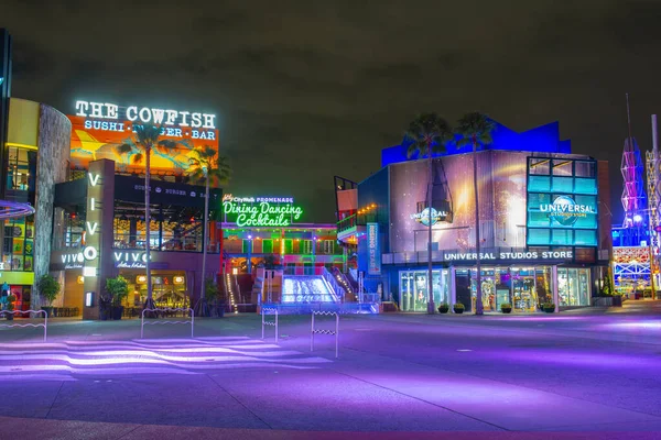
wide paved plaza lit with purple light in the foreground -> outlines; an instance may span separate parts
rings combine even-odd
[[[281,316],[278,343],[260,323],[1,329],[0,438],[661,437],[661,302],[346,315],[338,359],[332,336],[310,351],[307,316]]]

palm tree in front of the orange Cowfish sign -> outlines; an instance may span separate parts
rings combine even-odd
[[[151,262],[150,262],[150,205],[149,205],[149,183],[150,183],[150,170],[151,170],[151,154],[154,150],[162,154],[171,153],[176,148],[176,142],[171,140],[161,139],[162,128],[160,125],[133,125],[133,132],[136,136],[128,143],[118,146],[117,152],[122,154],[130,154],[131,160],[134,164],[145,161],[144,166],[144,237],[145,237],[145,257],[144,263],[145,275],[147,275],[147,301],[144,302],[145,309],[154,308],[154,300],[152,297],[152,284],[151,284]]]

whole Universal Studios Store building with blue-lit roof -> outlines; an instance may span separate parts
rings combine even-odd
[[[358,186],[359,209],[375,207],[358,221],[366,226],[359,270],[366,286],[380,289],[384,299],[391,296],[400,310],[425,311],[429,162],[408,161],[405,148],[384,150],[384,167]],[[435,305],[475,309],[477,161],[484,309],[589,306],[611,248],[607,163],[571,154],[568,142],[559,140],[557,123],[524,133],[498,125],[494,144],[484,151],[448,150],[433,160]]]

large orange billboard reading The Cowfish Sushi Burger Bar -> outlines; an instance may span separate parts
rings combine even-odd
[[[133,161],[140,148],[128,153],[119,150],[122,144],[134,144],[134,124],[160,125],[161,140],[176,145],[167,151],[152,150],[150,166],[154,174],[184,175],[195,148],[208,145],[218,150],[216,116],[210,113],[77,101],[76,114],[68,119],[72,122],[71,161],[78,169],[87,169],[89,162],[100,158],[115,161],[116,168],[122,172],[144,169],[144,161]]]

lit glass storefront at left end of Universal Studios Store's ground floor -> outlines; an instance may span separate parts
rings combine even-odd
[[[429,296],[427,271],[400,272],[400,310],[426,311]],[[432,289],[434,305],[451,302],[449,297],[449,270],[432,271]]]

